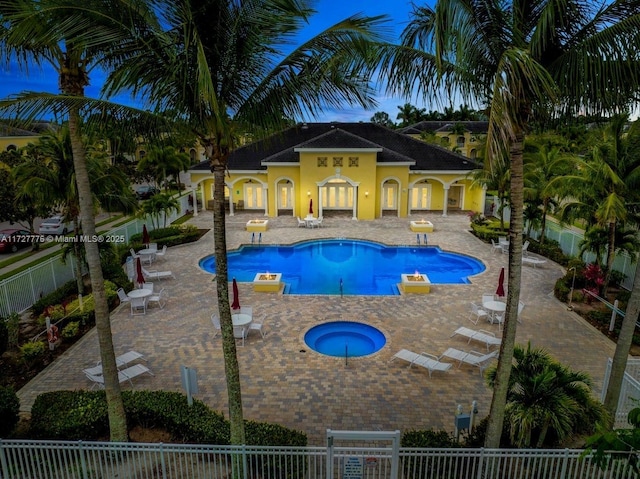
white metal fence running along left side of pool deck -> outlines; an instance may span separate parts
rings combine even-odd
[[[167,225],[189,209],[188,194],[180,196],[178,202],[178,211],[172,211],[166,218]],[[163,227],[164,223],[164,216],[161,215],[160,227]],[[128,243],[131,236],[142,232],[142,226],[145,224],[149,230],[156,227],[151,218],[136,218],[110,230],[108,235],[122,236],[125,243]],[[76,259],[69,255],[64,263],[60,254],[0,281],[0,317],[26,311],[42,296],[71,281],[75,277],[75,261]]]

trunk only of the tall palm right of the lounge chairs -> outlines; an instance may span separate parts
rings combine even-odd
[[[518,301],[520,300],[520,276],[522,271],[522,232],[524,229],[524,164],[522,148],[524,135],[519,133],[509,149],[511,159],[511,220],[509,228],[509,275],[507,309],[504,317],[504,332],[500,344],[500,356],[493,386],[493,397],[489,410],[489,422],[485,437],[485,447],[500,447],[500,437],[504,425],[504,411],[509,390],[511,361],[516,339]]]

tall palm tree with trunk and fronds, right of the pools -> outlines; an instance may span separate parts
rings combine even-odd
[[[523,236],[523,142],[533,115],[565,109],[612,111],[637,101],[635,52],[640,5],[570,0],[441,0],[416,7],[403,48],[387,49],[384,73],[407,97],[457,90],[489,106],[487,166],[509,158],[509,293],[485,445],[497,447],[520,297]],[[640,284],[638,285],[640,294]]]

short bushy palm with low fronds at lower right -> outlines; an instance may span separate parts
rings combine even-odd
[[[550,435],[562,441],[581,428],[593,432],[595,424],[606,417],[591,395],[586,373],[572,371],[531,343],[526,349],[516,345],[513,359],[505,409],[513,445],[540,448],[547,445]],[[494,385],[496,372],[495,366],[487,371],[489,387]]]

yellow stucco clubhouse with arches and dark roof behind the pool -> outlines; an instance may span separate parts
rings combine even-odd
[[[469,173],[479,165],[455,152],[373,123],[304,123],[229,157],[229,214],[256,217],[418,216],[482,212],[485,191]],[[189,170],[205,208],[213,174],[204,161]],[[197,204],[197,203],[196,203]]]

